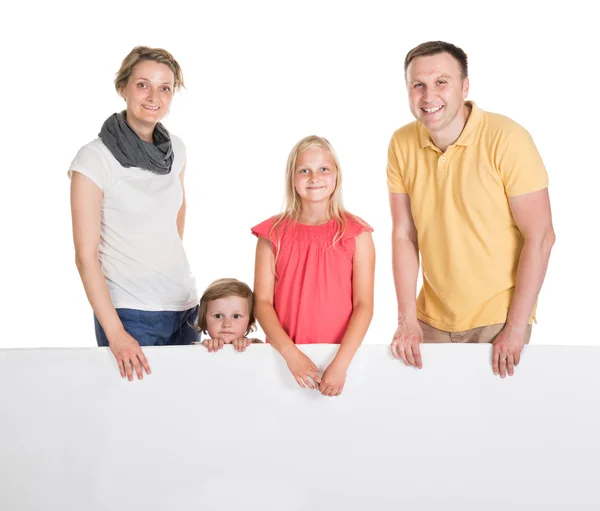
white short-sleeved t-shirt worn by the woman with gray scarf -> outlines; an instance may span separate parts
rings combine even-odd
[[[177,232],[185,145],[173,135],[171,142],[174,161],[166,175],[121,166],[99,138],[71,163],[69,177],[80,172],[103,192],[100,265],[115,308],[183,311],[198,304]]]

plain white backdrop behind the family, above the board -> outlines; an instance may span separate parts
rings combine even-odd
[[[94,346],[74,264],[69,164],[124,108],[113,88],[136,45],[184,71],[164,123],[188,150],[185,246],[200,292],[253,281],[250,227],[277,213],[287,154],[327,137],[347,208],[374,228],[376,304],[365,342],[387,343],[396,303],[386,150],[412,120],[403,60],[441,39],[469,56],[470,99],[532,134],[550,175],[557,242],[534,344],[600,344],[596,19],[569,1],[13,2],[4,7],[0,347]],[[595,330],[595,331],[594,331]]]

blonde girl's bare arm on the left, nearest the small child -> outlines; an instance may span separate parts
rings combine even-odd
[[[315,387],[310,379],[312,378],[316,383],[321,381],[317,366],[290,339],[282,328],[273,307],[275,292],[274,268],[275,255],[273,254],[271,242],[265,238],[258,238],[254,268],[254,313],[256,319],[271,345],[285,359],[298,385],[314,389]]]

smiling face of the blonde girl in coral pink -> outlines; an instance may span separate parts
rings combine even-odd
[[[335,190],[337,167],[331,153],[322,147],[298,155],[294,169],[294,188],[302,202],[328,201]]]

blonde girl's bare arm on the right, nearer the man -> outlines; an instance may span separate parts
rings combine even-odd
[[[325,396],[339,396],[344,388],[346,372],[361,345],[373,318],[375,280],[375,246],[370,232],[356,237],[352,267],[352,315],[338,352],[323,373],[320,385]]]

